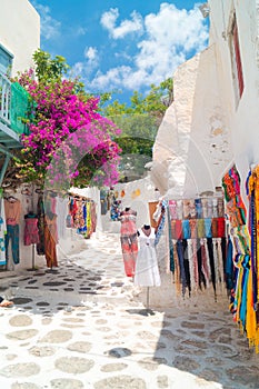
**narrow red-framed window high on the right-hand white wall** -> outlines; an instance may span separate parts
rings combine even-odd
[[[233,22],[230,36],[230,49],[231,49],[231,59],[232,59],[232,73],[233,73],[233,84],[237,101],[240,100],[243,92],[243,76],[242,76],[242,62],[241,53],[239,47],[239,37],[238,37],[238,24],[236,14],[233,14]]]

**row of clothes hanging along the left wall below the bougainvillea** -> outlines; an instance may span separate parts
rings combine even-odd
[[[33,207],[36,194],[38,200]],[[20,263],[19,235],[22,230],[23,246],[32,248],[32,266],[28,270],[36,270],[36,252],[46,257],[47,267],[52,270],[53,267],[58,267],[57,243],[59,239],[66,239],[67,227],[76,228],[78,233],[90,238],[97,228],[94,201],[72,193],[60,198],[57,192],[34,189],[33,184],[23,186],[20,191],[8,189],[4,192],[1,189],[0,266],[8,270]],[[9,259],[10,253],[13,263]]]

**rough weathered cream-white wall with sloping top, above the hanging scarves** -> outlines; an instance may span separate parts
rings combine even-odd
[[[215,191],[232,160],[215,46],[177,69],[173,91],[156,138],[151,179],[168,198],[191,198]]]

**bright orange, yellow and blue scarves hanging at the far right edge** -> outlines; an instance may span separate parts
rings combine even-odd
[[[231,232],[226,266],[230,311],[249,346],[259,352],[259,167],[255,167],[247,177],[248,212],[241,198],[240,176],[236,166],[223,176],[222,187]]]

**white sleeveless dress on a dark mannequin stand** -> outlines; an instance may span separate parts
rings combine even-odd
[[[156,230],[145,225],[138,230],[139,251],[136,261],[135,286],[159,287],[161,285],[156,255]]]

